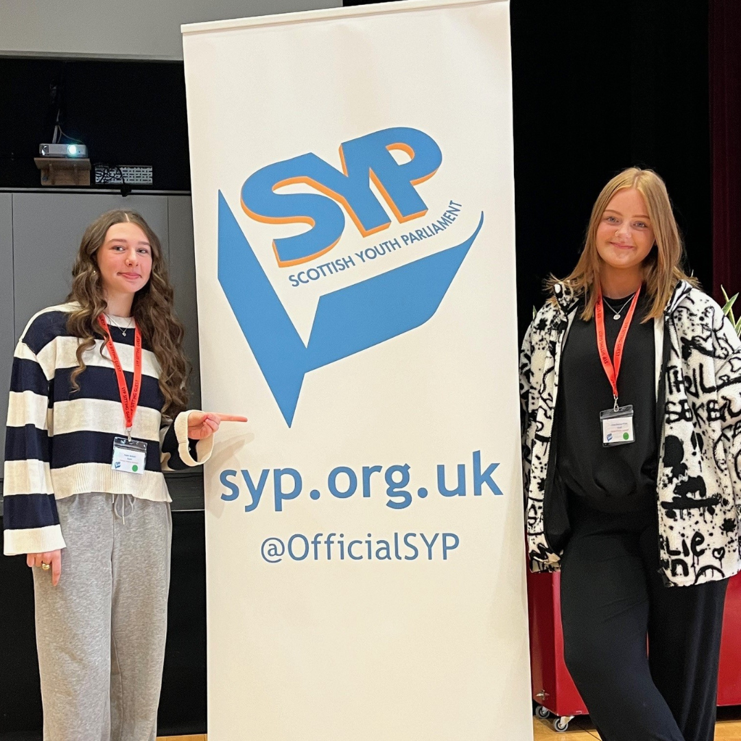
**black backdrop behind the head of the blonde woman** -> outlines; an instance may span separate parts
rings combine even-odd
[[[667,184],[688,267],[712,288],[705,0],[512,0],[520,334],[574,267],[599,190],[637,165]]]

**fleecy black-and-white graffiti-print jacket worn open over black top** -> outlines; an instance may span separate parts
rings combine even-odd
[[[520,356],[522,459],[533,571],[558,571],[548,517],[558,511],[551,446],[561,350],[579,296],[554,286]],[[680,281],[654,320],[659,557],[665,584],[717,581],[741,570],[741,341],[722,309]]]

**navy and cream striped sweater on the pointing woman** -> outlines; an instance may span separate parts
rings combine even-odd
[[[113,438],[126,428],[116,371],[96,339],[83,355],[87,368],[77,379],[80,390],[73,391],[78,339],[67,332],[67,314],[74,308],[52,306],[33,316],[13,357],[3,486],[6,555],[64,548],[56,499],[65,496],[103,491],[169,502],[162,471],[199,465],[213,447],[213,435],[188,440],[188,412],[173,422],[162,419],[159,363],[143,343],[142,391],[131,436],[147,442],[147,462],[143,474],[114,471]],[[124,336],[110,325],[110,333],[131,388],[133,329]]]

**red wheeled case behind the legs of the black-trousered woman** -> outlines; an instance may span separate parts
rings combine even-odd
[[[528,572],[530,661],[536,715],[565,731],[587,708],[563,659],[559,574]],[[679,587],[681,588],[681,587]],[[720,643],[718,705],[741,705],[741,574],[728,582]]]

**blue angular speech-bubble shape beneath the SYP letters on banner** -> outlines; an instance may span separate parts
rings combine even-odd
[[[219,283],[290,427],[304,376],[423,325],[450,288],[479,225],[461,245],[325,293],[302,341],[219,191]]]

